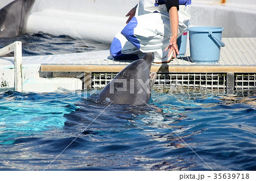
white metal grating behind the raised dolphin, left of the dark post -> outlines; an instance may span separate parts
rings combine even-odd
[[[92,88],[102,89],[117,73],[93,73]],[[199,87],[207,89],[225,89],[226,74],[223,73],[159,73],[156,77],[155,86],[159,87]]]

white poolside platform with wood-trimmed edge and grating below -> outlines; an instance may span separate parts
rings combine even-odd
[[[179,82],[185,87],[256,89],[256,37],[222,40],[226,46],[221,48],[218,63],[191,62],[187,50],[184,57],[168,64],[152,64],[151,71],[158,73],[156,84],[170,86]],[[39,92],[55,91],[58,87],[85,89],[86,75],[92,75],[87,80],[92,85],[87,87],[102,88],[131,62],[113,60],[109,50],[23,57],[22,61],[23,90]],[[0,88],[14,87],[13,62],[13,57],[0,58]]]

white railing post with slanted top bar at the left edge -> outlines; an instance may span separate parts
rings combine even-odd
[[[0,57],[14,52],[14,89],[22,92],[22,43],[15,41],[14,43],[0,49]]]

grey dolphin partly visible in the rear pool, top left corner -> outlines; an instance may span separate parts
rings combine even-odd
[[[0,10],[0,37],[26,32],[27,19],[35,0],[16,0]]]

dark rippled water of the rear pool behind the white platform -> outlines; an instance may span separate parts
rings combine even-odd
[[[93,40],[74,40],[69,36],[53,36],[46,33],[27,33],[16,37],[0,37],[0,48],[14,41],[22,41],[23,56],[39,56],[49,54],[80,53],[92,50],[109,49],[110,44]],[[9,56],[13,56],[12,53]]]

